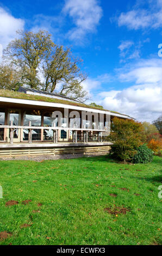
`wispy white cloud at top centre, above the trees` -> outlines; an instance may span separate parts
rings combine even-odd
[[[63,11],[72,18],[75,25],[67,33],[70,40],[83,40],[87,33],[95,32],[102,17],[102,8],[97,0],[66,0]]]

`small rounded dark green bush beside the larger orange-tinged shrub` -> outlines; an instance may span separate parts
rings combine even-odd
[[[152,162],[153,152],[147,148],[146,144],[140,145],[137,149],[137,153],[133,157],[134,163],[149,163]]]

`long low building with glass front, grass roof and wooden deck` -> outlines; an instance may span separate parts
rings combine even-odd
[[[41,90],[0,90],[0,157],[106,152],[113,117],[132,119]]]

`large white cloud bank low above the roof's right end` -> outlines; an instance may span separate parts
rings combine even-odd
[[[140,121],[153,121],[158,118],[162,113],[162,60],[140,60],[118,72],[117,81],[133,82],[134,86],[121,90],[105,90],[96,97],[94,95],[96,103]]]

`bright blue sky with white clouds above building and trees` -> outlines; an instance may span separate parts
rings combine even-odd
[[[92,101],[142,121],[161,114],[162,0],[0,0],[0,51],[18,29],[71,46]]]

